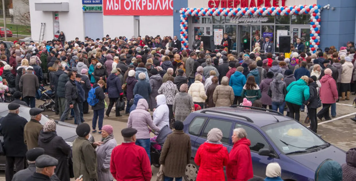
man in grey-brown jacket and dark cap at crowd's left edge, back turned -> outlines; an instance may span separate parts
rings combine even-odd
[[[30,105],[31,108],[36,106],[36,92],[40,87],[38,78],[33,74],[33,68],[28,67],[26,74],[23,74],[19,83],[20,91],[22,92],[23,100]]]

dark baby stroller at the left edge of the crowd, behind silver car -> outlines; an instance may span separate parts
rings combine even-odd
[[[47,90],[42,84],[36,92],[36,99],[44,101],[44,103],[39,105],[38,108],[43,110],[51,109],[53,112],[56,111],[54,105],[55,92],[52,92],[52,90]]]

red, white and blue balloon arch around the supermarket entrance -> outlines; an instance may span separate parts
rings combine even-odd
[[[180,41],[182,50],[188,48],[188,16],[288,16],[310,14],[310,53],[315,53],[320,46],[320,5],[298,5],[280,7],[242,7],[242,8],[182,8],[180,13]]]

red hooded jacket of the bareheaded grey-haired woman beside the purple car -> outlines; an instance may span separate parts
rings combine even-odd
[[[249,139],[242,138],[232,147],[226,166],[227,181],[247,181],[253,177],[250,145]]]

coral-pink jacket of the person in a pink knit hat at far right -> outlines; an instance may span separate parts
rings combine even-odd
[[[339,75],[340,76],[340,75]],[[339,98],[339,94],[337,93],[336,82],[333,77],[328,74],[325,74],[320,79],[321,87],[320,87],[320,99],[323,104],[333,104],[336,102],[336,99]]]

